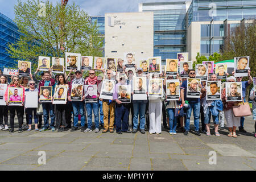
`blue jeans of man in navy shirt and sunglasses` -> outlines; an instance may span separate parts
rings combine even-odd
[[[195,131],[199,131],[200,102],[189,103],[189,105],[190,105],[190,108],[187,109],[187,117],[185,118],[185,131],[189,131],[192,109],[193,109],[193,115],[194,115]]]

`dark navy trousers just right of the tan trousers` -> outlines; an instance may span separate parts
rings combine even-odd
[[[129,105],[117,104],[115,107],[115,122],[117,126],[117,132],[128,130],[128,116],[129,116]]]

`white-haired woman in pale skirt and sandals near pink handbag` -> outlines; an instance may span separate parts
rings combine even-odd
[[[226,79],[227,82],[236,82],[237,79],[236,77],[230,76]],[[236,87],[236,86],[234,86]],[[236,134],[236,129],[238,126],[240,126],[240,117],[235,117],[234,113],[233,113],[233,108],[232,106],[234,106],[235,104],[238,104],[238,102],[227,102],[227,97],[226,96],[226,89],[224,88],[222,90],[222,94],[221,94],[221,99],[223,102],[223,106],[224,106],[224,113],[225,113],[225,118],[226,118],[226,126],[229,128],[229,134],[228,137],[234,137],[237,138],[237,134]],[[232,94],[236,94],[236,89],[232,89],[234,90],[234,92]]]

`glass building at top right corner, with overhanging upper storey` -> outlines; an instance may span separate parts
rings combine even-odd
[[[256,1],[193,0],[187,14],[188,27],[192,22],[202,22],[199,27],[201,30],[200,53],[209,57],[224,48],[224,39],[228,36],[224,32],[230,32],[232,27],[238,26],[242,19],[256,17]]]

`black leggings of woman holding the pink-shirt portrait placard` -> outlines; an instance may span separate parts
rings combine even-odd
[[[19,128],[21,129],[22,123],[23,123],[22,114],[24,114],[24,106],[9,106],[11,129],[14,129],[15,110],[16,110],[16,112],[17,112],[17,118],[18,118],[18,122],[19,122]]]

